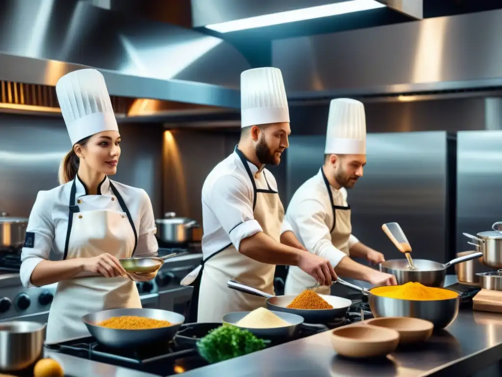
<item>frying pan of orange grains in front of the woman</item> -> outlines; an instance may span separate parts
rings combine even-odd
[[[155,329],[110,329],[99,326],[98,323],[111,318],[121,316],[138,316],[171,322],[171,326]],[[123,308],[103,310],[97,313],[87,314],[82,317],[87,330],[96,340],[111,348],[130,348],[155,340],[169,341],[185,321],[181,314],[160,309]]]

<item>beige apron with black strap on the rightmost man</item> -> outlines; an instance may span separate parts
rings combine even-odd
[[[333,211],[333,225],[331,226],[331,243],[338,250],[343,251],[345,254],[349,255],[348,249],[348,239],[352,233],[352,225],[350,223],[350,206],[338,206],[335,203],[344,204],[342,194],[338,191],[338,197],[333,198],[331,192],[331,187],[329,185],[328,179],[321,168],[322,177],[326,185],[326,189],[329,195],[329,201],[331,203]],[[299,295],[302,293],[307,286],[313,286],[317,283],[312,276],[308,273],[302,271],[296,266],[290,266],[288,271],[288,276],[286,278],[286,283],[284,287],[285,295]],[[322,295],[333,295],[347,297],[348,290],[345,286],[334,285],[333,290],[330,287],[319,287],[315,291]],[[332,292],[334,291],[334,292]]]

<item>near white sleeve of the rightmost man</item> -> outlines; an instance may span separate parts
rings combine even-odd
[[[288,208],[286,219],[293,225],[295,234],[305,248],[329,260],[335,267],[343,257],[347,256],[331,243],[331,233],[325,223],[326,211],[318,200],[308,199],[294,208]]]

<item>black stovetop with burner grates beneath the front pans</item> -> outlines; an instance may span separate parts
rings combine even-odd
[[[364,319],[372,318],[369,305],[357,300],[349,308],[344,318],[335,319],[332,323],[328,324],[316,324],[313,326],[306,324],[305,326],[299,326],[298,331],[292,338],[272,340],[268,344],[268,347],[360,321],[361,309],[364,310]],[[178,334],[186,333],[187,330],[190,331],[190,325],[182,325]],[[198,337],[204,335],[198,335]],[[168,342],[157,342],[141,346],[141,348],[137,349],[114,349],[99,344],[93,337],[85,337],[46,347],[52,351],[141,370],[159,376],[170,376],[208,365],[208,362],[198,354],[195,342],[183,343],[177,341],[175,343],[170,340]]]

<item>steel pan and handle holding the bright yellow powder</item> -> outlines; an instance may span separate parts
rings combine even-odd
[[[413,260],[417,265],[417,259]],[[407,261],[404,261],[408,264]],[[342,284],[346,287],[360,291],[368,297],[369,308],[375,318],[378,317],[412,317],[430,321],[434,327],[443,329],[449,326],[458,315],[460,305],[459,295],[448,300],[401,300],[389,297],[376,296],[371,293],[371,289],[365,289],[340,278],[336,284]]]

